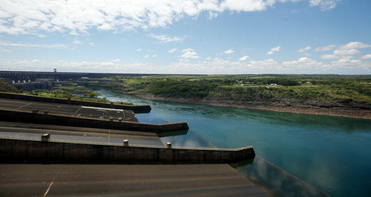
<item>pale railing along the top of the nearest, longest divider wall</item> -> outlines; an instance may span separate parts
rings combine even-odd
[[[31,140],[31,141],[49,141],[49,142],[62,142],[62,143],[73,143],[73,144],[95,144],[95,145],[109,145],[109,146],[124,146],[121,143],[111,143],[111,142],[88,142],[88,141],[78,141],[78,140],[67,140],[67,139],[45,139],[41,138],[30,138],[30,137],[20,137],[20,136],[9,136],[0,135],[1,139],[20,139],[20,140]],[[129,144],[129,147],[147,147],[147,148],[166,148],[165,146],[158,145],[143,145],[143,144]],[[190,150],[216,150],[216,151],[239,151],[247,148],[252,148],[252,146],[242,147],[242,148],[203,148],[203,147],[171,147],[175,149],[190,149]]]

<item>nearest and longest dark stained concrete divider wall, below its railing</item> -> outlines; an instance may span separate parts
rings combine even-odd
[[[234,162],[253,157],[255,157],[255,152],[252,147],[238,151],[226,151],[0,139],[0,158],[9,160]]]

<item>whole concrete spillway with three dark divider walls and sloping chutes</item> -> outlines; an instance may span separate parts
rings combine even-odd
[[[174,192],[184,196],[271,196],[270,190],[262,190],[265,186],[235,170],[254,160],[260,163],[253,147],[216,148],[204,139],[196,147],[174,144],[177,135],[197,134],[186,122],[143,118],[153,114],[149,105],[30,96],[0,93],[0,171],[4,177],[0,188],[7,196],[173,196]],[[88,120],[98,122],[83,123]],[[112,127],[126,123],[146,128],[175,124],[187,129]],[[286,182],[300,185],[302,193],[326,196],[272,167],[268,165]]]

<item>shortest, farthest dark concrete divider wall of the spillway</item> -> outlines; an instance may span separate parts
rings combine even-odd
[[[83,105],[83,106],[93,106],[101,108],[112,108],[112,109],[128,109],[133,111],[138,110],[151,110],[150,105],[119,105],[111,103],[101,103],[101,102],[91,102],[91,101],[79,101],[79,100],[68,100],[62,98],[50,98],[43,96],[33,96],[33,95],[24,95],[17,93],[7,93],[0,92],[0,98],[4,99],[16,99],[23,101],[37,101],[37,102],[49,102],[49,103],[59,103],[59,104],[70,104],[70,105]]]

